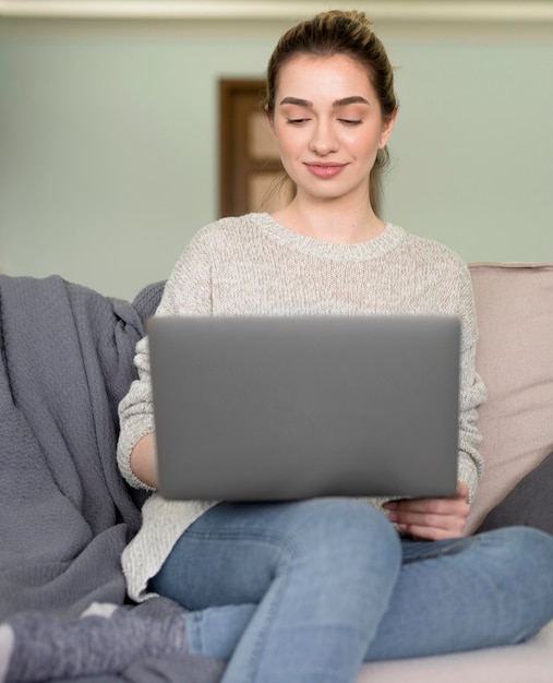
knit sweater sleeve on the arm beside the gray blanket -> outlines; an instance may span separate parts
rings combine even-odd
[[[209,250],[200,232],[183,252],[164,289],[156,315],[211,315],[212,286]],[[136,345],[134,364],[139,372],[127,396],[119,404],[120,435],[117,448],[119,469],[135,488],[149,489],[131,470],[131,453],[136,443],[153,433],[154,404],[147,336]]]

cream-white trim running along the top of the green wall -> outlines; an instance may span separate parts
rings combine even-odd
[[[0,16],[73,19],[298,20],[328,9],[351,9],[351,0],[0,0]],[[553,22],[553,2],[358,1],[375,21],[543,23]]]

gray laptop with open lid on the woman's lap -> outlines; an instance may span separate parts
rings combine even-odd
[[[454,493],[456,317],[155,317],[148,336],[165,498]]]

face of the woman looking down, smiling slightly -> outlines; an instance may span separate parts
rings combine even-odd
[[[359,62],[346,55],[299,55],[280,70],[271,125],[298,196],[366,199],[369,173],[394,119],[383,121]]]

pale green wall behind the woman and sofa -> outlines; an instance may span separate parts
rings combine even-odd
[[[0,19],[0,271],[165,278],[217,217],[217,80],[262,77],[285,27]],[[467,261],[553,261],[553,27],[384,28],[385,217]]]

